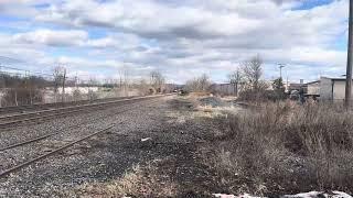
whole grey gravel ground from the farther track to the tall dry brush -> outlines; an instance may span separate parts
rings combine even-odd
[[[227,138],[227,123],[220,116],[211,117],[208,111],[197,110],[192,100],[183,97],[164,97],[0,132],[0,145],[84,121],[87,123],[81,128],[64,130],[45,141],[0,152],[2,170],[53,150],[54,144],[67,143],[116,123],[107,133],[0,178],[0,197],[118,197],[111,196],[116,193],[114,190],[119,191],[111,184],[125,182],[136,167],[142,173],[140,179],[128,186],[136,188],[135,194],[124,191],[124,195],[165,197],[165,194],[158,193],[168,190],[165,186],[170,183],[172,197],[212,197],[212,194],[227,194],[248,182],[232,175],[229,177],[234,180],[224,180],[227,176],[210,167],[212,160],[218,160],[210,148],[220,146]]]

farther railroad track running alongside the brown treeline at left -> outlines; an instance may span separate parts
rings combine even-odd
[[[139,101],[139,100],[145,100],[150,98],[158,98],[163,96],[169,96],[169,95],[135,97],[135,98],[126,98],[126,99],[118,99],[113,101],[87,103],[87,105],[64,107],[64,108],[50,109],[50,110],[40,110],[40,111],[33,111],[33,112],[26,112],[26,113],[1,116],[0,129],[7,130],[9,128],[18,127],[20,124],[41,123],[41,122],[51,120],[53,118],[58,118],[66,114],[74,114],[82,111],[92,111],[94,109],[103,109],[111,105],[133,102],[133,101]]]

